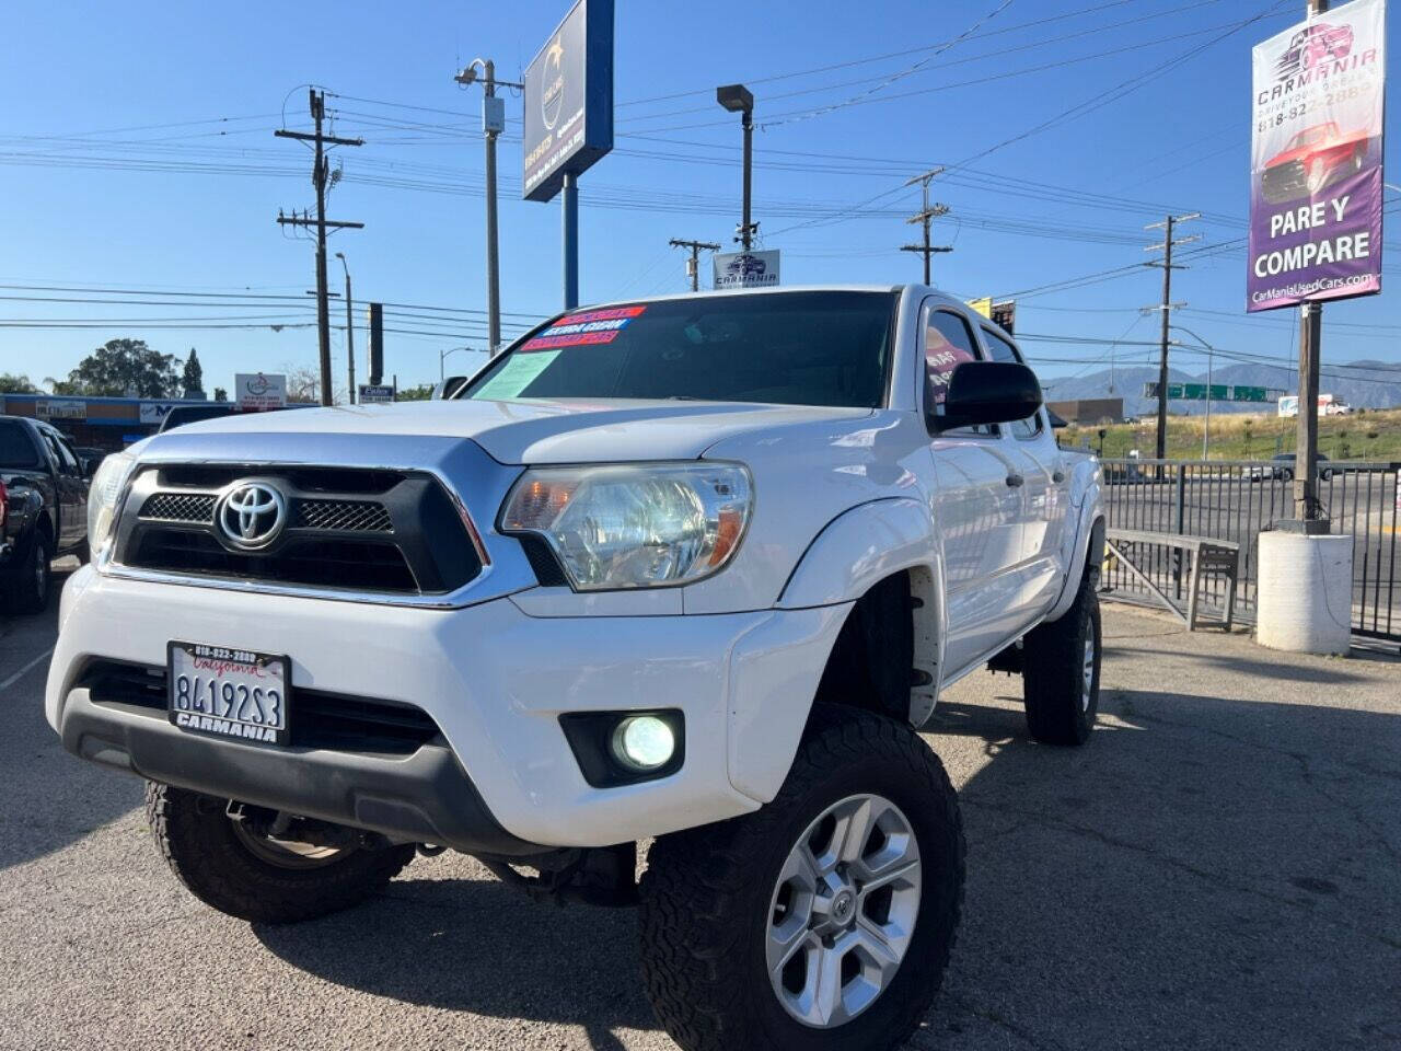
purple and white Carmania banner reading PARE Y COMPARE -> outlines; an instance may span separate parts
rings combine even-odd
[[[1381,291],[1386,0],[1255,45],[1245,310]]]

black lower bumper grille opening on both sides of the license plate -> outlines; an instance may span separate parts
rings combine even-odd
[[[167,673],[163,667],[97,660],[84,668],[77,685],[98,705],[112,705],[154,715],[168,710]],[[422,708],[395,701],[303,689],[293,684],[289,736],[296,748],[374,755],[410,755],[440,736],[437,723]]]

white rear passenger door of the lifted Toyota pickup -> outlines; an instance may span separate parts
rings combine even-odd
[[[993,362],[1023,362],[1002,332],[982,325],[982,342]],[[1062,540],[1070,483],[1045,408],[1003,427],[1012,439],[1021,486],[1021,597],[1027,622],[1047,612],[1061,593]]]

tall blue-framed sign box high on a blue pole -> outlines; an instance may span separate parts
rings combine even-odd
[[[579,0],[525,69],[525,200],[612,149],[612,0]]]

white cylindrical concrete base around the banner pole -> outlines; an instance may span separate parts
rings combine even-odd
[[[1295,653],[1352,643],[1352,537],[1259,534],[1255,642]]]

